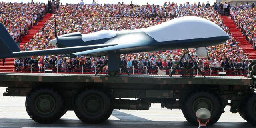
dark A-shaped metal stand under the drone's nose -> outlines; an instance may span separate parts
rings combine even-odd
[[[172,77],[172,74],[175,72],[175,70],[178,68],[178,66],[180,65],[181,61],[183,60],[183,58],[185,57],[185,55],[188,54],[188,51],[186,51],[182,58],[180,58],[180,61],[178,62],[178,64],[174,67],[174,69],[172,70],[172,72],[169,74],[169,76]],[[200,74],[202,76],[204,76],[203,72],[200,70],[200,68],[198,68],[196,62],[194,62],[193,58],[190,56],[190,54],[188,54],[188,57],[192,60],[195,68],[198,70],[198,72],[200,72]],[[186,75],[186,70],[189,70],[189,75],[187,76]],[[187,66],[184,66],[184,68],[182,69],[182,77],[193,77],[193,68],[192,67],[187,67]],[[204,76],[205,77],[205,76]]]

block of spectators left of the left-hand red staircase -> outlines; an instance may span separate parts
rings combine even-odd
[[[0,22],[4,24],[12,38],[19,44],[22,36],[42,19],[45,13],[44,4],[27,4],[0,2]]]

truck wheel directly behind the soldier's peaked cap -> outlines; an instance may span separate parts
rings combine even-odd
[[[200,108],[206,108],[211,112],[211,118],[207,125],[216,123],[222,114],[220,100],[210,92],[196,92],[191,94],[184,102],[182,112],[188,122],[198,126],[196,111]]]

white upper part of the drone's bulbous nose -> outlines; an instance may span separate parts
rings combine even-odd
[[[158,42],[197,39],[220,40],[205,44],[205,46],[210,46],[212,44],[220,44],[223,40],[229,39],[228,34],[214,22],[194,16],[176,18],[145,28],[143,31]]]

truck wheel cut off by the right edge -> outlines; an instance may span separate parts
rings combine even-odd
[[[242,112],[245,120],[253,126],[256,126],[256,94],[253,94],[250,98],[245,100]]]

